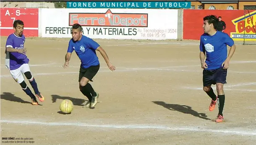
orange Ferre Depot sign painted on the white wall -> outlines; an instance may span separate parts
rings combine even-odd
[[[69,13],[69,26],[148,27],[148,14],[143,13]]]

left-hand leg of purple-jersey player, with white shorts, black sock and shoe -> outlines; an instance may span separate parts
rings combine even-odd
[[[16,70],[11,70],[10,74],[12,75],[13,79],[18,84],[20,84],[21,89],[31,98],[32,105],[38,105],[37,98],[34,96],[34,94],[31,92],[31,90],[27,86],[26,82],[24,81],[24,77],[21,73],[21,68],[18,68]]]

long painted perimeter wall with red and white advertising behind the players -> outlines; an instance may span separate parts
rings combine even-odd
[[[256,41],[256,33],[252,25],[253,23],[254,27],[256,26],[256,10],[250,10],[251,17],[246,14],[246,19],[244,12],[244,10],[1,8],[0,32],[1,36],[13,33],[13,20],[21,19],[25,24],[26,37],[71,38],[72,24],[79,21],[84,35],[90,38],[199,40],[204,33],[202,28],[204,16],[214,14],[222,16],[222,20],[227,25],[225,33],[234,40],[243,40],[245,28],[246,41]]]

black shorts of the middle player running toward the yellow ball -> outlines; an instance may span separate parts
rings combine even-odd
[[[98,71],[99,71],[99,65],[90,66],[89,68],[86,68],[86,69],[80,67],[78,81],[81,81],[83,76],[89,79],[90,81],[92,81],[92,78],[97,74]]]

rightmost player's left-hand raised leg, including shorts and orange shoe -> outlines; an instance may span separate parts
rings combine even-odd
[[[204,70],[203,71],[203,90],[208,94],[209,97],[212,98],[212,101],[209,105],[209,111],[213,111],[215,109],[215,105],[217,103],[217,96],[214,94],[212,89],[212,84],[215,84],[213,81],[213,73],[214,70]]]

